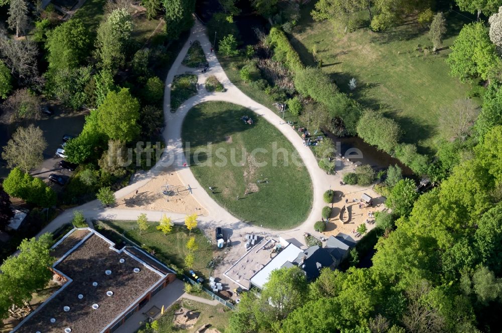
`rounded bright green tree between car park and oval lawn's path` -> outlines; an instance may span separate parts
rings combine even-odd
[[[127,88],[118,93],[110,91],[99,106],[97,117],[101,132],[110,139],[128,143],[140,133],[140,103]]]

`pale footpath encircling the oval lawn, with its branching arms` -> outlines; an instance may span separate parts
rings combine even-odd
[[[189,41],[200,42],[202,49],[204,50],[204,53],[206,55],[206,59],[209,63],[209,70],[206,73],[201,73],[200,70],[187,68],[181,64],[190,47]],[[319,168],[314,154],[312,153],[310,148],[306,147],[303,144],[303,140],[295,132],[295,130],[291,128],[291,126],[284,124],[279,115],[277,115],[267,107],[250,99],[249,97],[244,95],[237,87],[235,87],[235,85],[233,85],[226,76],[215,54],[211,53],[210,49],[211,44],[206,35],[205,27],[202,26],[202,24],[200,24],[198,21],[196,21],[194,27],[191,29],[190,38],[185,43],[183,49],[173,63],[166,79],[164,94],[164,116],[167,125],[163,132],[163,137],[166,142],[165,152],[162,155],[161,160],[149,172],[137,176],[133,184],[115,192],[115,196],[117,198],[120,198],[133,191],[136,191],[136,189],[142,187],[148,181],[150,181],[151,177],[154,175],[168,171],[177,171],[181,181],[185,185],[190,186],[195,199],[208,211],[207,216],[198,217],[199,227],[201,227],[202,229],[209,230],[213,229],[216,226],[221,226],[225,228],[225,231],[230,234],[230,237],[236,237],[247,232],[266,232],[273,235],[281,235],[285,239],[296,238],[302,243],[304,242],[304,232],[309,232],[321,236],[321,233],[317,233],[313,230],[313,225],[317,220],[320,219],[322,207],[325,205],[323,201],[323,193],[330,186],[332,189],[338,188],[339,182],[341,180],[340,176],[327,175],[322,169]],[[171,113],[171,84],[175,75],[183,74],[187,71],[192,72],[198,76],[198,83],[201,88],[199,89],[196,96],[186,100],[175,113]],[[206,78],[211,75],[214,75],[223,84],[226,89],[224,93],[208,93],[205,88],[203,88],[203,84],[205,83]],[[181,128],[183,120],[192,107],[199,103],[207,101],[224,101],[249,108],[253,110],[257,115],[265,118],[268,122],[273,124],[293,144],[307,167],[313,185],[312,209],[307,220],[305,220],[301,225],[290,230],[275,231],[244,223],[236,217],[232,216],[223,207],[217,204],[200,186],[199,182],[195,179],[194,175],[190,171],[190,168],[183,167],[183,163],[186,162],[185,156],[183,154],[181,140]],[[345,193],[355,192],[359,190],[361,190],[360,187],[353,187],[350,185],[345,185],[343,187],[343,191]],[[81,206],[64,211],[52,222],[50,222],[39,233],[39,235],[44,232],[53,232],[64,223],[69,222],[74,210],[82,210],[86,218],[94,219],[136,220],[140,213],[147,214],[148,219],[154,221],[158,221],[163,213],[166,213],[166,215],[170,216],[175,223],[184,223],[185,218],[185,214],[172,212],[104,208],[99,201],[93,200]]]

